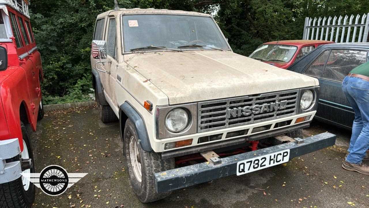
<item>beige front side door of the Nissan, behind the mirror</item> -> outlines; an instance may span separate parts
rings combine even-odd
[[[116,107],[115,95],[115,78],[117,76],[117,25],[114,16],[109,16],[107,19],[107,26],[105,31],[107,63],[104,63],[103,68],[107,73],[101,74],[105,78],[104,91],[107,98],[110,100],[113,110]],[[109,101],[108,101],[109,102]]]

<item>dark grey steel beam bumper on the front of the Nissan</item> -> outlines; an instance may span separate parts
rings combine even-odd
[[[304,143],[288,142],[272,147],[263,148],[251,152],[245,152],[230,157],[221,158],[220,165],[209,162],[189,165],[182,168],[155,173],[155,189],[158,193],[173,191],[175,189],[189,187],[191,185],[215,180],[229,175],[235,175],[237,162],[250,158],[268,155],[274,152],[290,150],[291,160],[294,157],[308,154],[335,144],[336,135],[331,133],[317,134],[304,139]]]

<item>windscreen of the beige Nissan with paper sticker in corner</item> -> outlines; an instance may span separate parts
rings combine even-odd
[[[200,16],[123,15],[123,41],[125,52],[146,46],[178,48],[193,44],[229,49],[213,19]],[[186,50],[197,47],[180,48]],[[201,46],[198,48],[210,49]]]

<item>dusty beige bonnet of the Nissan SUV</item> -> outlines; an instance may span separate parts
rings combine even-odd
[[[126,63],[156,85],[169,104],[318,85],[318,80],[231,51],[128,54]]]

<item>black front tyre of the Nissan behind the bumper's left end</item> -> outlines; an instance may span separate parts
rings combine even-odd
[[[139,159],[141,162],[141,179],[137,177],[132,166],[131,155],[132,151],[130,148],[130,142],[138,143],[137,132],[135,130],[133,122],[128,119],[125,123],[124,134],[123,134],[123,151],[125,157],[125,164],[128,169],[128,175],[134,193],[137,195],[141,202],[153,202],[159,199],[163,199],[171,194],[171,192],[158,194],[154,187],[154,174],[156,172],[171,170],[175,168],[174,158],[167,160],[161,160],[160,155],[156,152],[146,152],[142,150],[140,145],[137,145]]]

